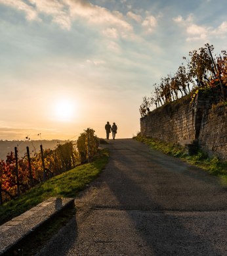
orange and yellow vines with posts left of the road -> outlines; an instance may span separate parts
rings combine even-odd
[[[36,184],[45,182],[76,165],[92,161],[98,151],[99,140],[94,130],[88,128],[76,143],[67,141],[58,143],[54,149],[35,152],[31,157],[30,149],[24,157],[18,158],[18,147],[7,155],[6,161],[0,159],[0,205],[16,198]]]

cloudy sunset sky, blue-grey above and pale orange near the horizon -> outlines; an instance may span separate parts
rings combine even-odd
[[[139,107],[189,51],[227,50],[227,0],[0,0],[0,140],[140,131]]]

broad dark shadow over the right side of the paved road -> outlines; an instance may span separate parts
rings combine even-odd
[[[119,201],[117,207],[127,210],[151,253],[224,255],[226,248],[214,247],[214,241],[220,237],[215,225],[224,225],[225,213],[222,220],[218,220],[215,212],[208,215],[200,212],[216,211],[218,205],[226,209],[226,203],[220,203],[218,197],[217,203],[211,203],[211,192],[224,192],[217,186],[215,177],[185,163],[178,166],[180,161],[169,163],[168,157],[164,161],[159,153],[148,155],[145,151],[141,156],[141,152],[138,162],[138,153],[127,152],[127,148],[117,150],[113,146],[105,181]],[[221,196],[224,198],[226,194]],[[196,213],[192,213],[192,209]],[[204,218],[207,218],[205,222]]]

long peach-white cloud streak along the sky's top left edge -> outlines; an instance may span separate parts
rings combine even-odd
[[[81,19],[94,26],[115,28],[119,35],[133,36],[133,26],[129,24],[119,11],[109,11],[87,0],[0,0],[0,3],[14,9],[24,11],[27,20],[40,20],[39,14],[52,17],[52,22],[63,29],[70,30],[72,22]],[[113,32],[113,30],[112,30]],[[108,33],[108,32],[107,32]],[[110,36],[110,30],[109,34]],[[113,36],[113,34],[112,34]]]

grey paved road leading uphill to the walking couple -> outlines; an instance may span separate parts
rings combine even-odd
[[[106,169],[40,255],[227,255],[218,178],[131,139],[108,147]]]

